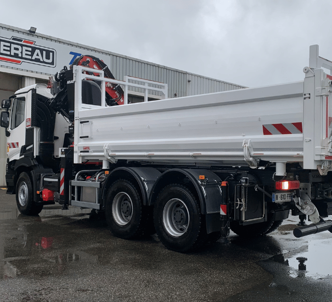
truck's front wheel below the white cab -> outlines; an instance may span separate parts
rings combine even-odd
[[[16,185],[16,204],[19,211],[24,215],[38,215],[43,204],[35,203],[33,200],[33,186],[29,174],[22,172]]]

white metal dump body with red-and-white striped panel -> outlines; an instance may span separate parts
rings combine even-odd
[[[330,81],[322,69],[307,67],[302,82],[100,107],[81,104],[81,79],[101,79],[82,74],[82,68],[74,68],[75,163],[255,167],[263,160],[317,169],[332,159]]]

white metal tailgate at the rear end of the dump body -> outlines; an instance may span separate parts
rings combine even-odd
[[[304,67],[303,168],[332,171],[332,62],[318,56],[318,45],[310,46],[309,67]]]

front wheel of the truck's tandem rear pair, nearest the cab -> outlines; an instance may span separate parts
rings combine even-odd
[[[110,231],[123,239],[146,234],[149,211],[142,205],[140,194],[128,180],[118,180],[108,189],[105,216]]]

